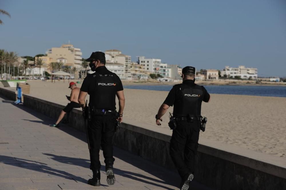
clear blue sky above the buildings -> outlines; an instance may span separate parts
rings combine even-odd
[[[286,76],[285,0],[0,0],[0,48],[44,54],[68,40],[83,57],[118,49],[197,69],[245,65]]]

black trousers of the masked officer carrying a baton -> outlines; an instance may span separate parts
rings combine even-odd
[[[114,115],[93,116],[88,122],[88,138],[90,141],[90,169],[100,169],[99,160],[100,146],[102,147],[104,163],[113,166],[113,135],[115,132]]]

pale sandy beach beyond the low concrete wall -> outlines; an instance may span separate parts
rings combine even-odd
[[[62,105],[68,103],[65,97],[70,94],[67,81],[28,83],[31,96]],[[124,89],[124,94],[124,119],[138,126],[168,128],[168,114],[163,117],[162,126],[156,126],[154,119],[168,92]],[[221,94],[211,94],[211,97],[210,103],[202,104],[202,115],[208,117],[208,123],[200,138],[286,157],[286,98]],[[172,113],[172,107],[169,111]]]

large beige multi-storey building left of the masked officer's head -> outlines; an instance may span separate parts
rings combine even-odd
[[[82,67],[82,52],[72,44],[63,44],[59,48],[51,48],[46,52],[50,62],[63,62],[76,68]]]

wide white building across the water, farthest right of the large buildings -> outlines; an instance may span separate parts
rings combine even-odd
[[[221,75],[226,75],[228,78],[240,76],[242,79],[257,79],[257,68],[246,68],[245,66],[233,68],[225,66],[225,68],[221,71]]]

